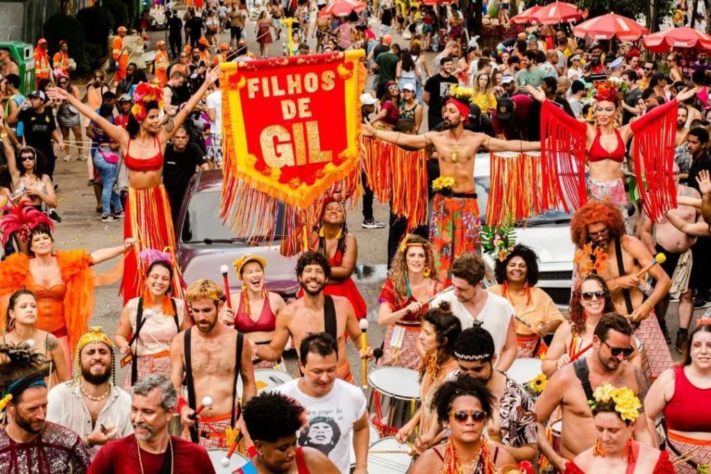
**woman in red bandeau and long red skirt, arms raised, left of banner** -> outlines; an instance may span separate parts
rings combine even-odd
[[[140,296],[139,291],[144,288],[147,265],[139,270],[139,252],[146,249],[175,251],[171,206],[163,186],[163,154],[169,139],[217,79],[218,69],[214,68],[205,75],[205,82],[185,107],[174,117],[163,120],[160,116],[163,90],[147,83],[139,84],[134,91],[134,105],[125,129],[112,124],[66,90],[48,90],[50,98],[70,102],[121,146],[130,184],[126,199],[124,238],[135,238],[136,242],[133,251],[124,260],[124,278],[121,283],[124,305],[131,298]],[[181,298],[183,285],[180,272],[174,273],[172,285],[175,296]]]

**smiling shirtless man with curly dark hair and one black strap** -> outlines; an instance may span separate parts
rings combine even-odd
[[[301,288],[304,288],[304,296],[290,302],[279,311],[277,328],[269,345],[257,346],[250,341],[252,351],[257,357],[262,360],[277,361],[282,357],[289,336],[294,341],[294,347],[301,347],[301,339],[309,333],[328,332],[338,342],[336,376],[338,379],[353,381],[351,364],[348,363],[346,352],[346,338],[343,335],[348,332],[356,347],[360,347],[360,327],[348,298],[324,295],[324,286],[329,275],[331,275],[331,265],[322,253],[301,254],[296,262],[296,278]],[[360,357],[370,357],[371,352],[368,347],[366,353],[361,354]]]

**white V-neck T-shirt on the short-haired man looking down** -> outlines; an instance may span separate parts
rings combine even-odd
[[[439,307],[443,301],[449,302],[451,311],[461,321],[461,329],[469,329],[474,326],[474,320],[481,321],[481,327],[491,334],[493,337],[493,347],[498,358],[501,358],[501,349],[506,344],[506,336],[508,335],[508,325],[513,317],[513,306],[506,298],[492,295],[486,292],[486,302],[481,308],[479,315],[474,318],[469,310],[464,307],[459,300],[454,296],[454,290],[449,290],[447,293],[438,296],[432,301],[432,306]]]

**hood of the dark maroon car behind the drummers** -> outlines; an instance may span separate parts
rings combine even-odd
[[[299,290],[299,281],[296,280],[294,267],[296,258],[287,258],[279,253],[279,246],[256,246],[249,248],[234,248],[218,244],[205,245],[181,243],[178,260],[183,270],[183,280],[186,284],[193,283],[199,278],[222,281],[220,267],[228,265],[228,283],[230,292],[239,291],[242,280],[237,278],[232,262],[245,253],[252,253],[267,260],[268,266],[264,269],[264,278],[267,289],[279,293],[282,297],[293,297]]]

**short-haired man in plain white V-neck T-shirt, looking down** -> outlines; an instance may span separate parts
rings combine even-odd
[[[484,290],[481,281],[486,267],[478,255],[467,253],[451,265],[451,285],[447,293],[432,301],[432,306],[449,302],[454,315],[461,321],[461,329],[481,325],[493,337],[498,364],[506,372],[516,358],[516,329],[513,324],[513,306],[501,296]]]

